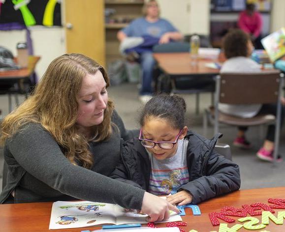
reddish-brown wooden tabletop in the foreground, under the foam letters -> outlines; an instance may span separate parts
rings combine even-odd
[[[183,216],[184,222],[188,223],[187,227],[181,227],[187,232],[194,229],[198,232],[213,232],[219,231],[219,226],[213,227],[208,213],[220,212],[223,206],[232,206],[235,208],[241,208],[242,204],[252,203],[268,203],[269,198],[282,198],[285,199],[285,187],[276,188],[263,188],[263,189],[250,189],[240,190],[225,196],[211,199],[204,203],[200,203],[199,207],[202,215],[193,216],[190,209],[186,209],[187,216]],[[47,232],[49,231],[49,221],[51,214],[52,202],[47,203],[20,203],[20,204],[1,204],[0,205],[0,231],[3,232]],[[274,209],[274,215],[277,217],[277,211],[285,211],[285,209]],[[248,215],[249,216],[249,215]],[[233,219],[239,217],[228,216]],[[254,216],[261,221],[261,216]],[[224,223],[222,220],[220,222]],[[238,221],[228,224],[228,227],[232,227],[235,224],[243,224]],[[165,224],[157,224],[157,227],[165,227]],[[55,231],[64,232],[81,232],[83,230],[98,230],[99,227],[77,228],[77,229],[64,229]],[[284,225],[276,225],[272,221],[269,221],[269,225],[263,230],[270,232],[284,232]],[[244,232],[241,228],[238,232]],[[257,230],[262,231],[262,230]]]

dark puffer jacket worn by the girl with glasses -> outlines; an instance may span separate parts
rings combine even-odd
[[[193,196],[192,203],[200,203],[240,188],[240,173],[237,164],[218,154],[214,147],[221,134],[211,140],[189,132],[185,139],[189,182],[178,189],[187,190]],[[121,158],[110,177],[131,185],[149,189],[151,161],[138,138],[121,141]]]

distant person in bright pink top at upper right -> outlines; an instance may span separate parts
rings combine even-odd
[[[262,48],[260,42],[262,18],[260,13],[255,11],[255,4],[247,4],[246,10],[240,13],[238,19],[238,27],[251,36],[255,48]]]

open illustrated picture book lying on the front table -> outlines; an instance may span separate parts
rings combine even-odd
[[[170,211],[170,218],[161,222],[177,222],[182,218]],[[52,206],[49,230],[89,227],[102,224],[146,224],[148,215],[127,211],[117,204],[96,202],[55,202]]]

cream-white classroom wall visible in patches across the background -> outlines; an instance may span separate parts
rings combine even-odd
[[[161,16],[168,18],[183,33],[209,34],[209,0],[158,0],[158,2],[161,7]],[[62,19],[64,19],[63,9],[64,5],[62,5]],[[285,27],[284,9],[285,0],[273,0],[271,31]],[[178,15],[181,17],[177,17]],[[183,21],[181,21],[182,18]],[[185,19],[189,19],[191,23],[187,23]],[[63,27],[36,26],[30,29],[34,54],[41,56],[36,67],[38,77],[41,77],[48,64],[66,52],[65,32]],[[0,31],[0,46],[10,49],[16,56],[16,44],[19,41],[25,41],[25,36],[25,31]]]

